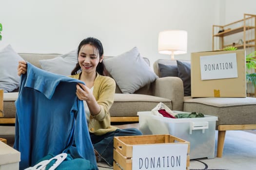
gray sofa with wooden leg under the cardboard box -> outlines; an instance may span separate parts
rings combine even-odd
[[[169,67],[177,66],[177,61],[157,60],[153,64],[153,67],[159,77],[163,75],[163,71],[165,73],[167,71],[164,68],[159,68],[161,65]],[[177,80],[173,79],[172,81]],[[175,88],[180,86],[183,88],[183,82],[177,81],[176,87],[170,85],[170,88],[175,90]],[[181,91],[179,90],[177,93]],[[191,96],[183,96],[182,100],[179,98],[177,101],[175,97],[171,97],[171,100],[173,103],[179,106],[181,105],[180,111],[197,112],[218,117],[216,122],[216,130],[218,131],[217,157],[222,157],[227,130],[256,129],[256,98],[192,98]]]

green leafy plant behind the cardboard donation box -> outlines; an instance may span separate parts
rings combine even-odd
[[[228,46],[223,49],[223,51],[234,51],[237,50],[236,47]],[[256,73],[249,73],[248,70],[256,69],[256,51],[246,55],[246,81],[251,82],[254,87],[256,87]]]

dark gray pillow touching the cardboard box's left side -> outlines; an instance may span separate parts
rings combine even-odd
[[[177,60],[178,77],[183,81],[184,96],[191,96],[191,63]]]

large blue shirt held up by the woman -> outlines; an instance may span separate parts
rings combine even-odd
[[[27,63],[15,102],[14,148],[20,151],[20,170],[47,154],[69,153],[97,166],[83,102],[76,96],[81,81],[46,72]]]

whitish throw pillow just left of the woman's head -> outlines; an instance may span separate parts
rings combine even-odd
[[[75,68],[77,62],[77,50],[52,59],[39,60],[43,70],[64,76],[71,75],[71,71]]]

